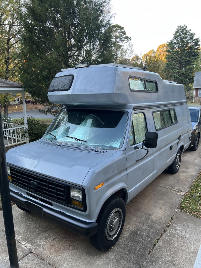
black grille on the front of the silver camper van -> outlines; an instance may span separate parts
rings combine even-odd
[[[46,177],[40,177],[34,173],[28,173],[22,170],[10,167],[12,182],[23,189],[36,193],[47,199],[58,203],[66,204],[65,185],[58,181]],[[34,181],[38,186],[33,187],[30,182]]]

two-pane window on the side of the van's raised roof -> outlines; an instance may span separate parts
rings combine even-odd
[[[157,83],[136,77],[129,77],[129,86],[131,91],[151,91],[158,92]]]

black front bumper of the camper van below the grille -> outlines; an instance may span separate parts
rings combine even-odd
[[[79,235],[92,236],[98,231],[98,224],[96,222],[87,222],[75,217],[69,216],[58,210],[51,209],[43,204],[39,204],[25,196],[10,190],[10,197],[12,202],[28,209],[29,211],[42,216],[62,227],[69,229]]]

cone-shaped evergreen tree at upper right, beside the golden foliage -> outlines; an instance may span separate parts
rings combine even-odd
[[[187,25],[177,27],[173,39],[168,42],[166,55],[166,67],[170,80],[184,85],[192,83],[199,41],[199,38],[195,38],[195,33],[187,29]]]

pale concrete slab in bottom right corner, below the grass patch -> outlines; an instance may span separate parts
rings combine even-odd
[[[193,268],[200,243],[201,220],[178,210],[142,268]]]

